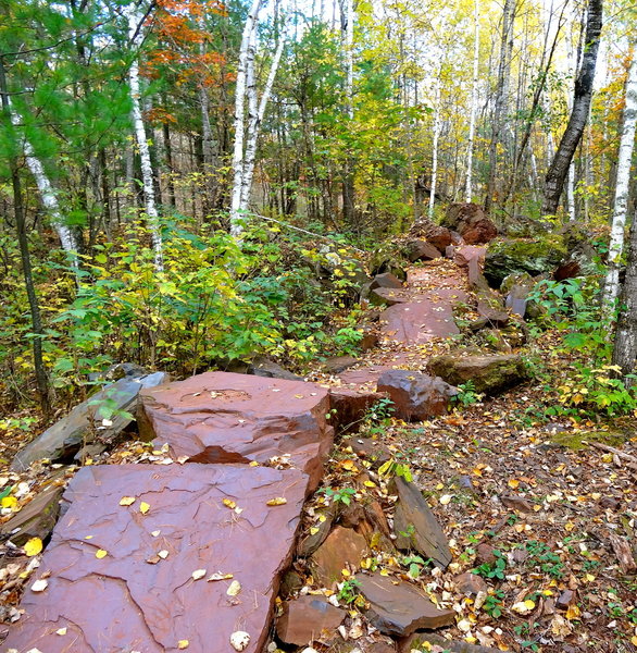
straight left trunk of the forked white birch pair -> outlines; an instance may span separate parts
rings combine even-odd
[[[261,0],[254,0],[250,13],[243,26],[241,47],[239,50],[239,62],[237,66],[237,82],[235,90],[235,148],[233,152],[233,195],[230,201],[230,234],[235,237],[241,235],[243,227],[241,218],[241,189],[243,177],[243,132],[246,127],[246,82],[247,66],[252,41],[252,33],[257,28]]]

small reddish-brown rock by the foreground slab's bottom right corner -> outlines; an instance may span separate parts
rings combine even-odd
[[[347,613],[327,603],[321,596],[299,596],[283,604],[283,614],[276,620],[276,633],[286,644],[307,646],[322,636],[334,634]]]

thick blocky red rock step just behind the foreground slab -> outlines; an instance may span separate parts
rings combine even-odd
[[[328,391],[313,383],[207,372],[140,394],[141,436],[192,463],[289,455],[314,489],[334,439]]]

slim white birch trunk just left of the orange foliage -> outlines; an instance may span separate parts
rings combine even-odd
[[[141,46],[142,35],[139,30],[141,17],[137,13],[135,5],[132,4],[126,10],[126,19],[128,20],[128,37],[130,38],[132,46],[137,49]],[[133,124],[135,127],[137,147],[139,149],[141,183],[143,186],[143,199],[146,204],[148,230],[150,231],[152,248],[154,250],[154,266],[158,269],[158,271],[162,271],[162,235],[159,224],[159,213],[157,210],[157,204],[154,198],[154,187],[152,182],[152,164],[150,161],[150,148],[148,147],[146,126],[143,125],[143,118],[141,114],[141,93],[139,90],[139,63],[137,59],[135,59],[130,64],[130,69],[128,71],[128,84],[130,86],[130,101],[133,104]]]

